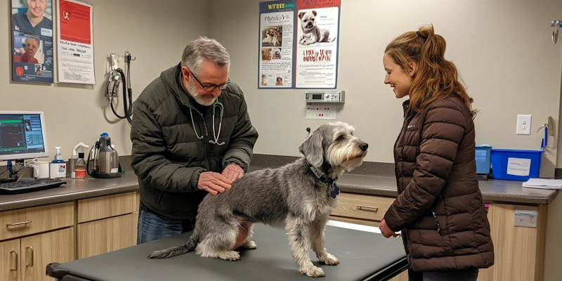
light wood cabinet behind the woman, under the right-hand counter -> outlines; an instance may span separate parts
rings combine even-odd
[[[338,207],[330,216],[334,221],[379,226],[394,198],[342,192]],[[517,210],[531,210],[536,227],[515,226]],[[492,203],[488,221],[494,243],[495,265],[480,269],[478,281],[542,281],[547,230],[547,205],[530,206]],[[407,272],[391,281],[407,281]]]

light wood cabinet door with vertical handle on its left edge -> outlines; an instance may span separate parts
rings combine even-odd
[[[53,281],[45,275],[47,264],[73,261],[74,243],[74,228],[22,238],[22,281]]]

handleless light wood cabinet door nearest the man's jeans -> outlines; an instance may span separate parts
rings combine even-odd
[[[138,212],[78,225],[78,259],[136,244]]]

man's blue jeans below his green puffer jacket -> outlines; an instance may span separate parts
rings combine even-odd
[[[195,221],[176,220],[160,216],[141,202],[138,208],[136,244],[143,244],[152,240],[185,233],[193,230],[194,226]]]

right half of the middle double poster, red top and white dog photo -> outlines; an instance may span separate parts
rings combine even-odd
[[[297,1],[295,88],[336,88],[339,12],[339,0]]]

